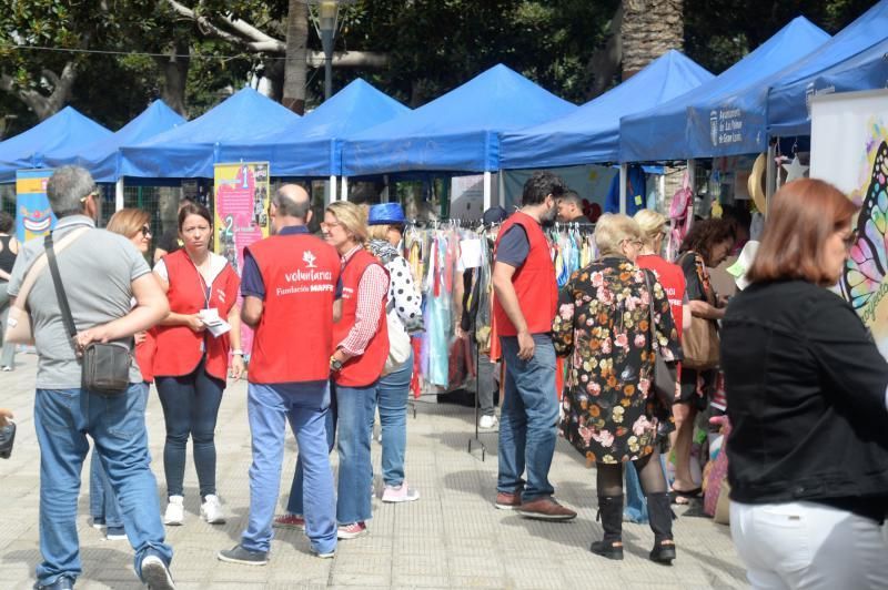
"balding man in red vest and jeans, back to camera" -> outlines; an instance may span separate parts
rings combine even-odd
[[[222,561],[269,561],[287,419],[304,466],[305,535],[315,555],[330,558],[336,551],[327,380],[341,265],[333,246],[309,234],[311,215],[301,186],[281,186],[271,201],[274,235],[244,250],[241,315],[255,329],[248,374],[250,521],[240,545],[219,552]]]

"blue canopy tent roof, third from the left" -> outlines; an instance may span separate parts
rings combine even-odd
[[[245,88],[193,121],[121,148],[120,174],[150,179],[212,177],[222,142],[269,134],[299,115]],[[235,160],[236,161],[236,160]]]

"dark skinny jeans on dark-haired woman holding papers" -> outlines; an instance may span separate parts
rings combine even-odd
[[[182,496],[185,447],[191,436],[201,498],[215,494],[215,419],[225,382],[211,377],[203,360],[182,377],[157,377],[158,395],[167,423],[163,471],[167,496]]]

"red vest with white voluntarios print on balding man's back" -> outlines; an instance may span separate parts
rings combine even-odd
[[[326,380],[339,253],[309,234],[266,237],[248,250],[265,286],[250,356],[250,383]]]

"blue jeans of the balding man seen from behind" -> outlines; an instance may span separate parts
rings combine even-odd
[[[336,502],[326,442],[329,410],[329,388],[317,394],[300,390],[299,385],[249,385],[253,465],[250,467],[250,521],[241,538],[246,549],[265,552],[271,548],[286,419],[299,441],[304,469],[305,535],[321,553],[336,548]]]

